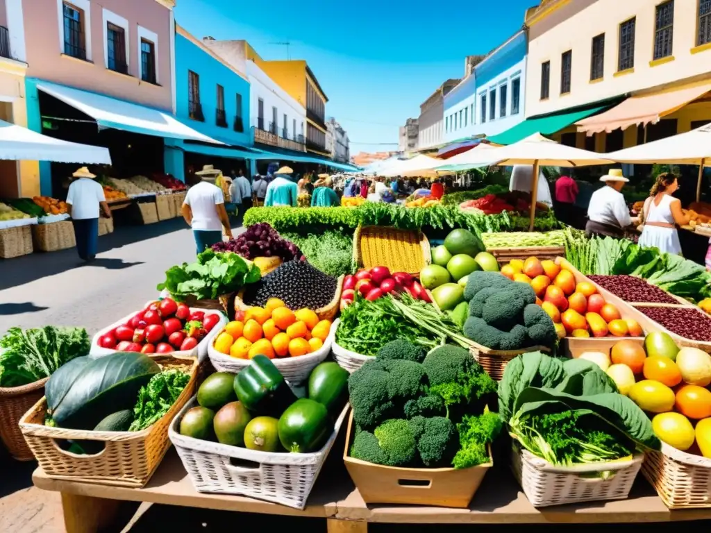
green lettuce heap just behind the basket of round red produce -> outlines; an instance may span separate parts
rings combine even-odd
[[[260,269],[247,259],[232,252],[207,249],[198,255],[195,263],[171,266],[166,271],[166,281],[159,284],[158,290],[168,289],[176,301],[185,301],[189,296],[214,300],[223,294],[237,292],[260,278]]]

